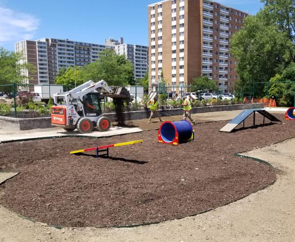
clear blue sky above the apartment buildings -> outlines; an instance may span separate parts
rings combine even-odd
[[[148,45],[148,5],[158,0],[0,0],[0,46],[41,38],[104,44],[106,38]],[[255,14],[260,0],[217,2]]]

